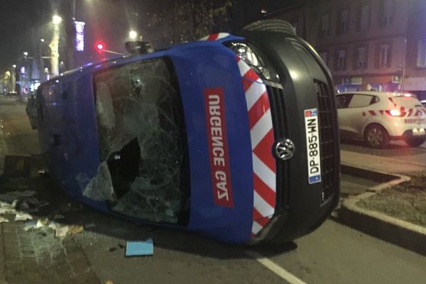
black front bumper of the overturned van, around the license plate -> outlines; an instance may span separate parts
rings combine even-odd
[[[290,241],[320,226],[339,200],[340,151],[334,85],[317,53],[300,38],[266,31],[241,35],[280,77],[280,82],[264,80],[275,140],[290,138],[296,149],[290,160],[276,160],[275,214],[253,242]],[[307,174],[305,109],[318,109],[320,124],[322,182],[312,185]]]

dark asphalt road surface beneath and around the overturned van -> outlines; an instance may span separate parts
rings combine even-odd
[[[36,132],[29,129],[22,104],[0,98],[4,133],[19,133],[13,143],[23,154],[34,153]],[[366,150],[342,145],[344,150]],[[392,148],[373,155],[417,160],[424,148]],[[420,158],[421,160],[421,158]],[[349,183],[357,180],[345,178]],[[349,179],[349,180],[348,180]],[[342,183],[344,186],[344,183]],[[97,226],[75,239],[100,280],[134,283],[413,283],[426,279],[426,257],[327,220],[317,231],[294,243],[273,248],[229,246],[197,234],[138,226],[84,209]],[[126,258],[127,240],[154,240],[154,254]],[[285,280],[286,279],[286,280]]]

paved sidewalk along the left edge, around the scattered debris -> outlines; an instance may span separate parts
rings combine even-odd
[[[40,146],[26,116],[25,104],[16,98],[0,97],[0,123],[0,194],[33,191],[38,200],[50,204],[28,213],[35,221],[50,217],[58,202],[34,166],[34,155],[40,153]],[[5,159],[6,155],[11,158]],[[25,164],[22,168],[27,168],[22,171],[25,174],[11,177],[9,174],[21,162]],[[100,282],[75,239],[55,238],[54,231],[47,227],[26,231],[26,222],[13,222],[13,214],[2,216],[9,222],[0,223],[0,284]]]

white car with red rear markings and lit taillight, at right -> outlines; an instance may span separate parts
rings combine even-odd
[[[426,108],[415,95],[368,91],[336,97],[342,138],[364,139],[373,148],[384,148],[391,140],[425,143]]]

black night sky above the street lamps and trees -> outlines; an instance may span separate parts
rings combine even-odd
[[[43,23],[48,23],[53,15],[53,6],[57,6],[58,3],[70,4],[72,0],[0,0],[0,74],[6,70],[12,70],[11,65],[17,63],[16,61],[23,55],[24,51],[28,51],[29,55],[34,55],[36,50],[31,50],[35,45],[35,40],[37,34],[37,26],[42,25]],[[115,28],[115,26],[129,26],[129,23],[121,23],[122,19],[114,20],[114,11],[116,9],[123,9],[123,6],[126,6],[126,1],[133,0],[76,0],[77,4],[82,6],[84,5],[84,11],[80,13],[89,13],[89,10],[92,10],[92,19],[97,18],[96,21],[92,21],[92,28],[97,28],[97,31],[94,33],[99,36],[99,38],[117,38],[114,32],[121,32],[121,29]],[[136,1],[136,0],[135,0]],[[148,6],[148,3],[159,3],[165,2],[168,0],[140,0],[136,1],[138,4],[141,4],[141,7],[145,5]],[[239,5],[243,6],[245,12],[252,13],[253,9],[258,9],[258,6],[265,6],[268,8],[268,11],[272,9],[279,9],[280,6],[285,6],[289,4],[294,4],[300,0],[266,0],[259,1],[257,0],[241,0]],[[109,4],[109,11],[106,11],[104,8]],[[251,7],[252,9],[246,9],[246,7]],[[241,7],[241,6],[240,6]],[[256,8],[255,8],[256,7]],[[108,8],[108,7],[107,7]],[[103,10],[102,13],[99,13],[99,10]],[[110,13],[108,13],[110,12]],[[129,21],[129,19],[127,19]],[[117,22],[116,25],[112,25],[109,22]],[[93,23],[97,22],[98,25]],[[104,27],[107,24],[108,29],[99,28]],[[89,28],[89,27],[87,27]],[[116,29],[117,31],[114,31]],[[123,28],[124,29],[124,28]],[[102,35],[103,34],[103,35]],[[32,44],[33,43],[33,44]],[[118,44],[118,43],[117,43]],[[119,43],[120,46],[122,43]],[[114,47],[118,49],[117,47]]]

